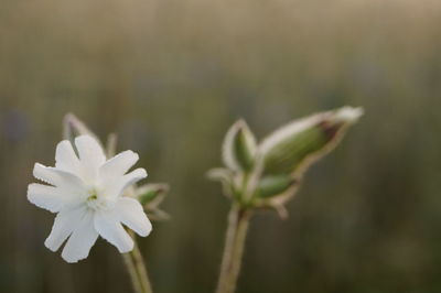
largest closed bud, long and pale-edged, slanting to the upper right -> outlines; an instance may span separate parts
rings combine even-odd
[[[330,152],[362,115],[361,108],[343,107],[295,120],[275,131],[259,146],[263,174],[301,175]]]

